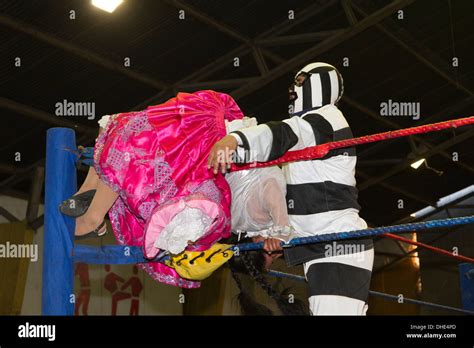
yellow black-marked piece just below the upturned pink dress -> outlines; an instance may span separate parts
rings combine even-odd
[[[185,279],[203,280],[234,255],[231,247],[230,244],[215,243],[204,251],[183,251],[165,264]]]

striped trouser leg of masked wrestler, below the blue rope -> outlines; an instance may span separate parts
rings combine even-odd
[[[374,250],[303,264],[312,315],[365,315]]]

